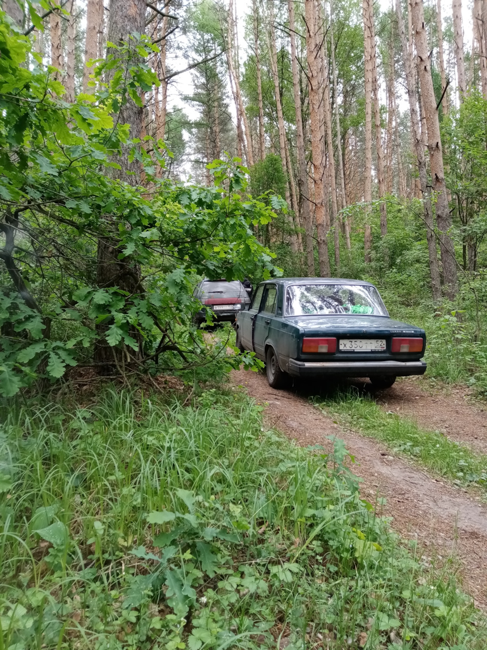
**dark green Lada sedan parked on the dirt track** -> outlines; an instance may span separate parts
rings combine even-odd
[[[424,374],[425,331],[389,317],[369,282],[280,278],[256,288],[236,318],[236,346],[266,363],[269,385],[288,376],[369,377],[388,388],[397,376]]]

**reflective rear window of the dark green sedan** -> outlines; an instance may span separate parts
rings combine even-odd
[[[293,285],[286,291],[286,316],[373,314],[387,316],[379,291],[366,285]]]

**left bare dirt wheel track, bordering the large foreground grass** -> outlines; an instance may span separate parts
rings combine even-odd
[[[362,495],[371,502],[376,495],[386,497],[382,513],[392,517],[393,528],[403,537],[417,538],[425,556],[442,560],[452,554],[458,558],[464,589],[475,604],[487,607],[487,507],[466,491],[392,456],[377,441],[340,428],[308,402],[308,397],[318,392],[316,386],[313,389],[298,383],[293,389],[277,391],[269,387],[264,374],[250,370],[232,372],[232,383],[242,385],[249,396],[265,406],[267,426],[277,428],[297,444],[319,444],[331,450],[328,436],[343,439],[356,458],[353,471],[364,481]],[[390,396],[384,391],[381,399],[390,400]]]

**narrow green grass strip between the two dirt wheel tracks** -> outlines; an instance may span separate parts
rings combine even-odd
[[[439,432],[421,429],[407,417],[384,411],[356,391],[316,398],[316,406],[337,415],[344,424],[386,443],[394,452],[413,456],[421,465],[457,484],[487,491],[487,456],[459,445]]]

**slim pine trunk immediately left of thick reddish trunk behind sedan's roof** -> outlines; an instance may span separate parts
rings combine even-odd
[[[297,61],[294,0],[288,0],[289,30],[291,40],[291,66],[293,75],[294,107],[296,111],[296,141],[297,141],[297,187],[299,191],[299,214],[301,223],[305,224],[306,233],[306,265],[310,277],[314,276],[313,252],[313,223],[308,200],[308,183],[306,170],[305,134],[303,131],[303,112],[301,111],[301,86],[299,83],[299,70]]]

